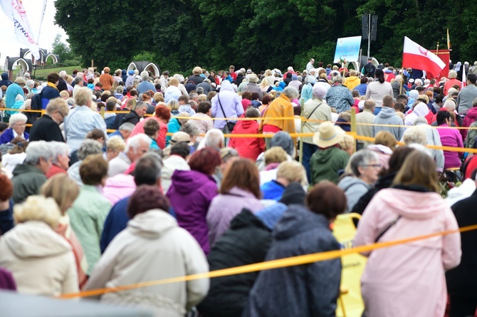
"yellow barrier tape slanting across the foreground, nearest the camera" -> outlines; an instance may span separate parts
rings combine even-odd
[[[116,292],[116,291],[125,291],[125,290],[128,290],[128,289],[139,289],[139,288],[147,287],[147,286],[172,284],[172,283],[179,283],[179,282],[184,282],[184,281],[193,281],[193,280],[196,280],[196,279],[211,279],[211,278],[221,277],[221,276],[244,274],[244,273],[251,273],[251,272],[256,272],[256,271],[279,269],[279,268],[288,267],[288,266],[310,264],[310,263],[319,262],[319,261],[327,261],[327,260],[331,260],[331,259],[337,259],[337,258],[340,258],[341,256],[345,256],[345,255],[348,255],[348,254],[364,253],[364,252],[369,252],[369,251],[373,251],[373,250],[376,250],[376,249],[387,248],[389,246],[397,246],[397,245],[400,245],[400,244],[407,244],[409,242],[429,239],[429,238],[433,238],[433,237],[445,236],[445,235],[448,235],[448,234],[456,234],[458,232],[468,232],[468,231],[476,230],[476,229],[477,229],[477,224],[474,224],[472,226],[461,227],[461,228],[455,229],[455,230],[447,230],[447,231],[444,231],[444,232],[436,232],[434,234],[424,234],[424,235],[417,236],[417,237],[399,239],[399,240],[394,240],[394,241],[379,242],[379,243],[376,243],[376,244],[368,244],[368,245],[365,245],[365,246],[356,246],[356,247],[353,247],[351,249],[341,249],[341,250],[335,250],[335,251],[325,251],[325,252],[320,252],[320,253],[315,253],[315,254],[305,254],[305,255],[301,255],[301,256],[292,256],[292,257],[285,258],[285,259],[277,259],[277,260],[265,261],[265,262],[256,263],[256,264],[236,266],[236,267],[231,267],[229,269],[209,271],[209,272],[201,273],[201,274],[192,274],[192,275],[188,275],[188,276],[177,276],[177,277],[173,277],[171,279],[161,279],[161,280],[157,280],[157,281],[145,281],[145,282],[140,282],[140,283],[135,283],[135,284],[130,284],[130,285],[117,286],[117,287],[106,288],[106,289],[93,289],[93,290],[90,290],[90,291],[83,291],[83,292],[79,292],[79,293],[68,293],[68,294],[63,294],[63,295],[59,296],[59,298],[77,298],[77,297],[99,296],[99,295],[103,295],[104,293],[112,293],[112,292]]]

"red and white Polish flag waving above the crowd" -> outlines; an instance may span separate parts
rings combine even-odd
[[[436,54],[431,53],[431,51],[426,50],[426,48],[404,36],[402,67],[420,69],[437,77],[446,67],[446,63],[441,61],[441,58],[437,57]]]

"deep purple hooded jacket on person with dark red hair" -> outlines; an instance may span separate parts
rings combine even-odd
[[[217,195],[214,178],[194,170],[176,170],[167,198],[176,214],[177,223],[194,237],[209,254],[209,229],[206,214]]]

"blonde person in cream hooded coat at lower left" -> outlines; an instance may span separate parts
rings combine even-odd
[[[19,293],[60,296],[76,293],[75,256],[54,232],[61,211],[53,198],[31,196],[14,207],[16,226],[0,239],[0,266],[11,271]]]

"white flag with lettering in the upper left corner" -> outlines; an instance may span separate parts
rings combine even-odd
[[[14,23],[15,34],[19,41],[26,43],[36,60],[40,59],[38,40],[33,34],[21,0],[0,0],[0,8]]]

